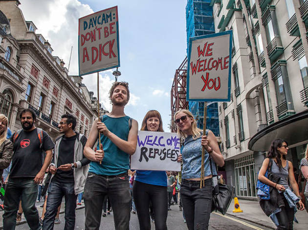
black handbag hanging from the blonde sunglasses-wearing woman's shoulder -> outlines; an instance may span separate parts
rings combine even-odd
[[[210,158],[211,172],[213,175],[211,156],[209,156],[209,158]],[[217,175],[217,181],[218,181],[218,175]],[[221,214],[224,215],[227,212],[229,205],[232,201],[235,188],[233,185],[223,185],[220,183],[214,185],[213,177],[212,177],[212,183],[213,183],[212,211],[219,211],[221,212]]]

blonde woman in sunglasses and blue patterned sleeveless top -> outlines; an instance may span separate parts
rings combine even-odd
[[[206,135],[202,135],[190,111],[177,111],[175,122],[177,134],[184,140],[177,161],[183,161],[180,196],[186,224],[189,230],[207,230],[213,199],[212,177],[217,175],[215,163],[222,167],[224,160],[213,132],[207,130]],[[204,187],[200,189],[202,147],[205,149]]]

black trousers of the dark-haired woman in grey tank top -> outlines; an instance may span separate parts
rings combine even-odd
[[[290,208],[283,193],[280,193],[279,195],[284,200],[285,207],[282,207],[281,211],[276,213],[279,223],[276,230],[293,230],[294,209]]]

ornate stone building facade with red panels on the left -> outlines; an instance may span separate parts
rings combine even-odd
[[[82,83],[69,76],[65,63],[52,55],[48,40],[26,21],[18,0],[0,1],[0,113],[9,117],[12,132],[21,128],[19,111],[30,108],[36,126],[55,139],[61,115],[73,114],[75,131],[88,136],[97,117],[97,101]],[[4,23],[3,23],[4,22]]]

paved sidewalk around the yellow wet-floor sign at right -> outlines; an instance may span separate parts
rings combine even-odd
[[[243,212],[234,213],[234,200],[232,200],[227,214],[230,216],[235,216],[242,220],[247,220],[252,223],[259,224],[269,229],[276,229],[276,226],[262,211],[258,201],[241,200],[239,199],[240,208]],[[294,230],[307,230],[308,226],[308,213],[304,211],[297,211],[295,214],[298,224],[294,222]]]

